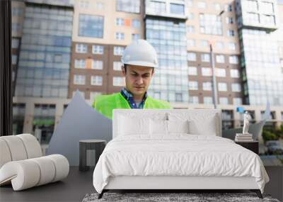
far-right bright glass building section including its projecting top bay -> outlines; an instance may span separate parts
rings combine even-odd
[[[283,105],[283,77],[279,60],[277,1],[237,0],[244,103]],[[281,36],[282,38],[282,36]]]

